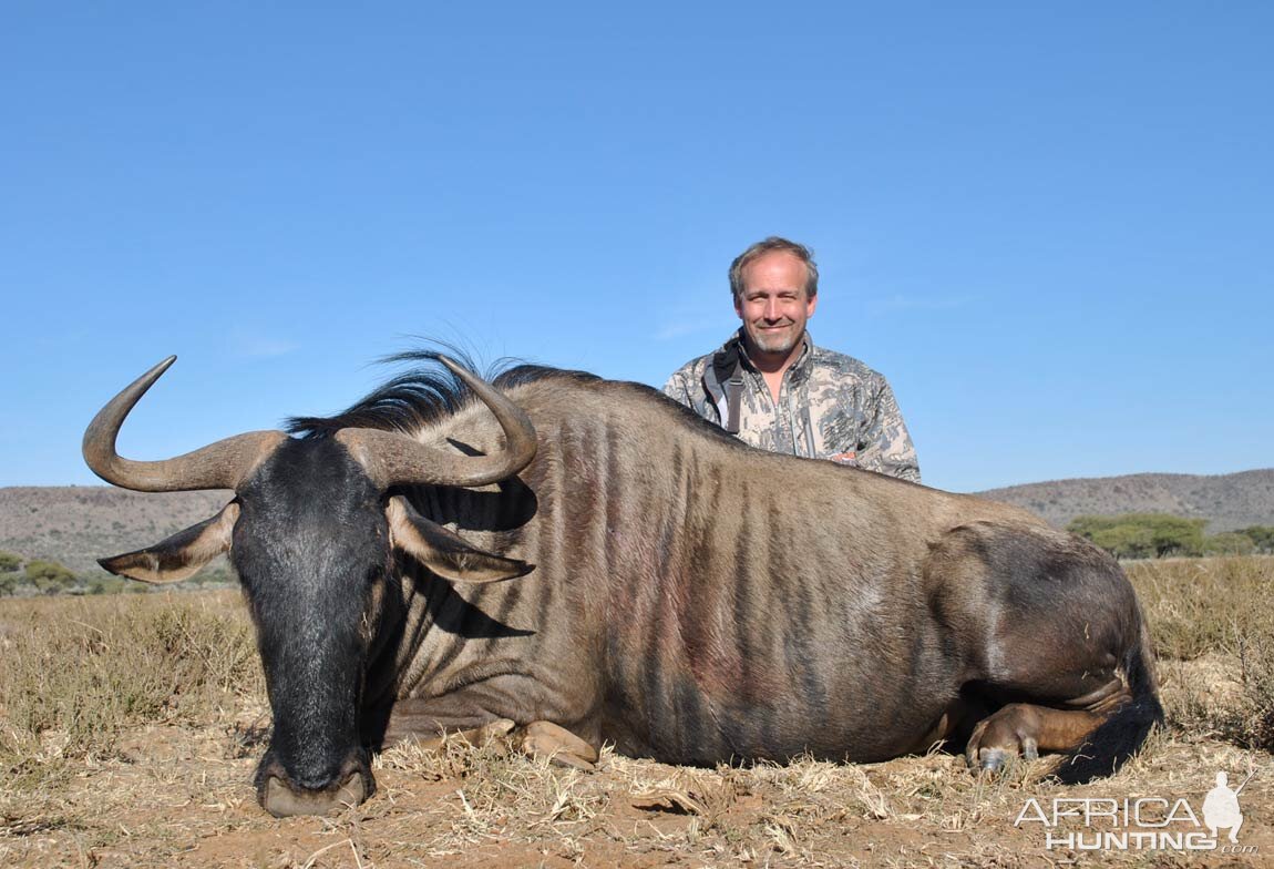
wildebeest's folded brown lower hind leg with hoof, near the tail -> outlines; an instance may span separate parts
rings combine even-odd
[[[1131,698],[1119,679],[1091,694],[1088,708],[1059,710],[1034,703],[1009,703],[973,728],[964,749],[971,767],[996,771],[1009,757],[1033,761],[1045,752],[1065,752],[1084,739],[1121,703]],[[1087,700],[1087,698],[1085,698]]]

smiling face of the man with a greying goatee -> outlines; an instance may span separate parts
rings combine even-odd
[[[786,251],[762,254],[743,270],[734,301],[744,333],[762,353],[791,353],[805,334],[818,297],[805,296],[805,264]]]

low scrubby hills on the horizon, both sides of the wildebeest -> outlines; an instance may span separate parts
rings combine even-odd
[[[1083,514],[1163,512],[1208,519],[1208,531],[1274,525],[1274,469],[1220,477],[1133,474],[1028,483],[978,494],[1065,526]],[[0,488],[0,549],[52,558],[76,573],[208,519],[231,492],[144,494],[107,485]]]

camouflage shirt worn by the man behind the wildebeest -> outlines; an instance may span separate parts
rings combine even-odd
[[[831,459],[919,483],[916,447],[884,377],[857,359],[814,347],[808,333],[804,341],[800,357],[784,372],[777,406],[764,377],[743,352],[741,334],[682,366],[664,385],[664,394],[722,424],[725,401],[713,359],[735,349],[744,384],[739,440],[771,452]]]

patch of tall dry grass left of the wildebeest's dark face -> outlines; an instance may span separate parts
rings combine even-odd
[[[108,757],[143,724],[204,724],[264,692],[234,595],[6,601],[0,609],[0,763],[48,773]]]

